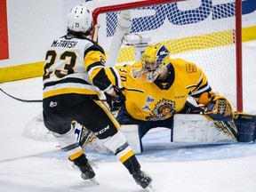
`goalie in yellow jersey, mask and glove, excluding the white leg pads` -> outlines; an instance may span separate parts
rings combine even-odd
[[[237,139],[235,116],[227,98],[212,91],[204,72],[196,64],[170,59],[163,44],[149,45],[141,60],[132,66],[116,66],[106,72],[113,84],[122,87],[126,97],[116,119],[120,124],[138,124],[140,142],[152,128],[172,129],[173,116],[180,113],[204,114],[209,120],[214,120],[220,129],[225,129],[225,134]],[[188,103],[189,96],[201,107],[195,108]],[[115,110],[115,99],[107,96],[107,101]],[[252,140],[255,140],[255,116],[246,118],[252,118],[250,134],[254,134]]]

